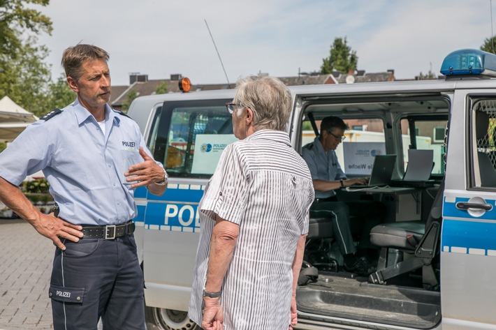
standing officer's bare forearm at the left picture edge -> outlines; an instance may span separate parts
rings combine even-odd
[[[17,213],[31,225],[34,225],[40,218],[40,211],[29,202],[19,187],[0,177],[0,200],[6,207]]]

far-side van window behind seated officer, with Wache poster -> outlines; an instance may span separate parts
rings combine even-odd
[[[370,175],[376,155],[386,154],[384,122],[382,119],[343,119],[349,127],[344,140],[336,150],[336,156],[347,176]],[[316,121],[320,129],[321,121]],[[315,133],[309,121],[302,126],[302,146],[314,142]]]

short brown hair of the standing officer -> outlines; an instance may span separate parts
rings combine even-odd
[[[102,50],[100,47],[78,44],[64,50],[61,63],[66,71],[66,76],[73,77],[74,80],[78,81],[82,75],[82,63],[95,59],[108,61],[110,56],[108,55],[108,52],[105,52],[105,50]]]

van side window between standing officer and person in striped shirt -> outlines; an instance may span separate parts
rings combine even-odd
[[[222,151],[238,140],[226,101],[208,103],[166,103],[154,116],[150,151],[172,177],[210,176]]]

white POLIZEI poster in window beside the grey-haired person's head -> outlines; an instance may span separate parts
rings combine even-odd
[[[213,174],[222,151],[238,139],[234,134],[197,134],[192,174]]]

